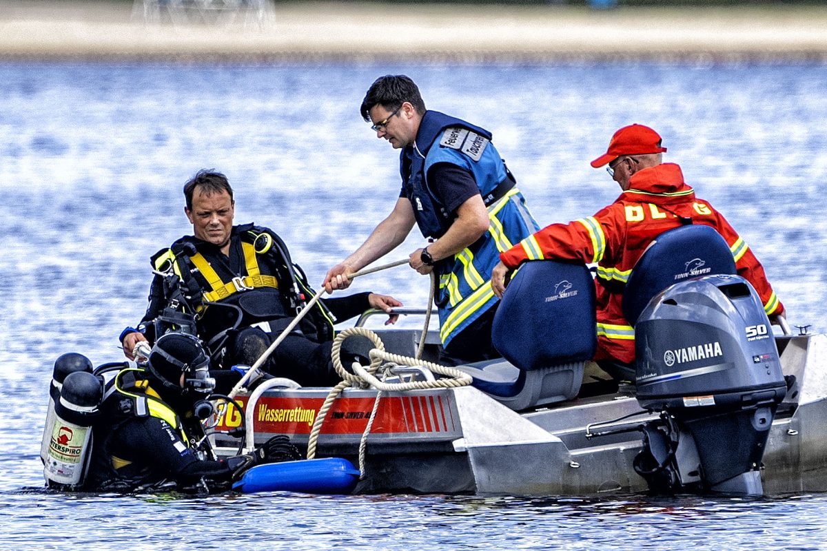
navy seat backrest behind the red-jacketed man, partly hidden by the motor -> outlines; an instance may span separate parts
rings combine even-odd
[[[735,273],[735,261],[723,237],[711,226],[680,226],[648,245],[624,288],[623,312],[634,326],[655,295],[691,278]]]

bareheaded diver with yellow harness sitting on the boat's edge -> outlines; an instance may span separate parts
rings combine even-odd
[[[272,230],[232,225],[235,202],[223,174],[198,172],[184,185],[184,197],[194,235],[153,256],[156,275],[150,304],[141,324],[122,332],[124,354],[133,359],[138,342],[153,342],[171,325],[186,325],[184,318],[189,316],[193,325],[189,332],[207,345],[212,368],[251,365],[314,292]],[[331,362],[334,323],[370,308],[390,314],[394,306],[402,303],[372,292],[321,300],[263,368],[304,386],[336,384],[341,378]],[[389,322],[396,317],[390,316]],[[347,344],[343,352],[347,354]],[[232,383],[222,374],[228,373],[213,373],[219,378],[219,390]]]

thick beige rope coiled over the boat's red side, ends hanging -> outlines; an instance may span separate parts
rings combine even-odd
[[[348,372],[342,367],[342,359],[340,352],[342,349],[342,342],[351,335],[361,335],[373,342],[375,348],[370,350],[370,365],[367,368],[362,367],[359,363],[353,363],[352,368],[355,373]],[[316,456],[316,444],[318,441],[319,432],[322,430],[322,425],[327,412],[333,405],[333,401],[339,397],[342,391],[347,387],[361,387],[361,388],[375,388],[376,399],[373,404],[373,410],[370,411],[370,418],[368,419],[365,431],[362,433],[359,442],[359,471],[361,477],[365,477],[365,455],[367,448],[367,435],[370,434],[370,428],[373,426],[373,420],[376,416],[376,411],[379,409],[379,401],[382,392],[404,392],[411,390],[425,390],[428,388],[456,388],[465,387],[471,384],[471,375],[463,373],[455,368],[449,368],[438,363],[428,362],[427,360],[410,358],[409,356],[401,356],[399,354],[391,354],[385,351],[385,344],[373,331],[365,329],[364,327],[351,327],[343,330],[336,339],[333,340],[332,345],[332,359],[333,368],[336,373],[342,377],[342,382],[339,382],[332,388],[331,392],[327,394],[322,407],[319,409],[316,419],[313,420],[313,428],[310,430],[308,438],[308,459],[313,459]],[[435,379],[433,381],[408,381],[408,382],[385,382],[385,378],[390,372],[385,369],[381,373],[382,380],[375,377],[375,373],[381,366],[394,365],[409,365],[427,368],[432,373],[442,375],[444,378]]]

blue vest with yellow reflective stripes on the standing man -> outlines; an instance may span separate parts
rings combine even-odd
[[[428,169],[437,163],[468,170],[485,202],[490,219],[488,233],[453,258],[437,263],[439,321],[442,344],[494,306],[491,271],[500,253],[539,230],[514,178],[491,143],[491,133],[452,116],[425,112],[414,145],[400,155],[404,196],[411,202],[419,230],[440,238],[451,226],[447,212],[427,181]]]

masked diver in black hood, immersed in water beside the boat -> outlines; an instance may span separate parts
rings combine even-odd
[[[122,368],[109,380],[83,489],[216,492],[257,464],[299,459],[284,435],[250,454],[213,458],[200,419],[212,413],[208,366],[197,338],[167,333],[155,341],[146,368]]]

